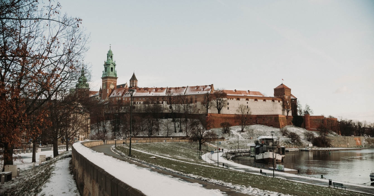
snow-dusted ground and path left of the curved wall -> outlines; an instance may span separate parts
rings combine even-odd
[[[52,155],[53,151],[43,151],[37,154]],[[36,164],[32,169],[32,153],[21,154],[24,157],[21,164],[16,161],[20,168],[20,175],[13,180],[0,185],[0,195],[7,196],[79,196],[73,174],[70,172],[71,158],[65,156],[71,154],[71,151],[64,152],[50,161],[42,162],[42,165]],[[39,156],[36,156],[39,158]]]

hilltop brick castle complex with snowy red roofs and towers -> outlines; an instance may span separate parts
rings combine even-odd
[[[250,109],[251,119],[248,124],[263,124],[281,128],[290,125],[292,115],[297,115],[297,98],[291,94],[291,88],[284,84],[274,88],[273,97],[250,90],[215,90],[213,84],[183,87],[139,87],[135,73],[130,78],[129,85],[127,83],[118,85],[116,63],[113,60],[111,49],[107,53],[101,78],[102,86],[91,98],[99,100],[102,104],[116,105],[117,112],[128,112],[126,108],[128,109],[132,95],[135,112],[142,112],[145,104],[153,103],[159,106],[161,113],[206,115],[207,120],[214,122],[214,127],[219,127],[219,123],[223,121],[236,124],[234,116],[237,114],[239,106]],[[218,92],[223,95],[219,99],[225,100],[220,112],[213,104],[210,104],[209,107],[206,104]],[[310,122],[309,117],[305,122]],[[304,127],[309,128],[310,125],[304,125]],[[316,128],[316,126],[312,127]]]

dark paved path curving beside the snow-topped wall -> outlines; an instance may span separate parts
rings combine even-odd
[[[131,164],[137,165],[138,167],[143,167],[143,168],[150,169],[151,171],[159,172],[160,174],[171,175],[173,177],[180,178],[181,180],[184,180],[184,181],[187,181],[187,182],[190,182],[190,183],[199,183],[199,184],[202,185],[202,187],[204,187],[206,189],[218,189],[221,192],[224,192],[229,196],[246,196],[246,195],[249,195],[249,194],[244,194],[244,193],[240,193],[240,192],[237,192],[235,190],[229,189],[228,187],[219,186],[217,184],[209,183],[209,182],[203,181],[203,180],[197,180],[197,179],[190,178],[190,177],[187,177],[187,176],[184,176],[184,175],[181,175],[181,174],[177,174],[177,173],[174,173],[174,172],[170,172],[170,171],[167,171],[167,170],[164,170],[164,169],[148,167],[148,166],[140,164],[138,162],[131,161],[127,158],[123,158],[122,156],[117,155],[116,153],[112,152],[110,150],[110,148],[112,146],[113,146],[113,144],[106,144],[106,145],[94,146],[94,147],[91,147],[91,149],[96,150],[97,152],[102,152],[107,156],[111,156],[111,157],[119,159],[121,161],[126,161],[126,162],[129,162]]]

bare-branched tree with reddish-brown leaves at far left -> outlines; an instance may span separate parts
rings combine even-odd
[[[59,91],[74,87],[87,36],[81,19],[59,13],[60,4],[0,2],[0,146],[4,165],[23,136],[41,134],[29,122],[46,120],[38,112]],[[34,128],[28,129],[29,126]]]

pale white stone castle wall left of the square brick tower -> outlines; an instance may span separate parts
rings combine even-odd
[[[236,110],[239,108],[239,105],[243,104],[251,109],[252,115],[285,115],[285,113],[282,110],[282,101],[278,102],[278,100],[275,100],[274,102],[272,102],[272,100],[266,100],[266,102],[264,102],[263,99],[263,97],[258,97],[257,101],[255,101],[255,99],[248,99],[247,101],[245,98],[240,100],[228,99],[227,103],[229,103],[229,105],[227,105],[226,103],[226,105],[222,108],[221,113],[236,114]],[[227,107],[229,109],[227,109]],[[209,113],[218,112],[217,109],[214,106],[212,106],[212,108],[209,110]],[[291,115],[291,112],[289,113],[289,115]]]

